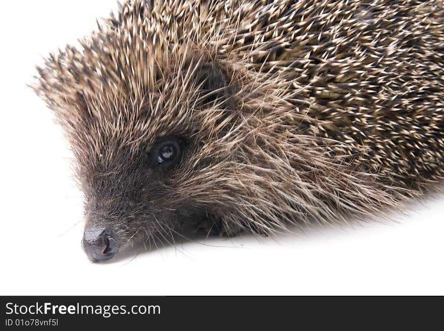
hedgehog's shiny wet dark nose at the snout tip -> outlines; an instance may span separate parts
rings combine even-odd
[[[119,240],[109,228],[85,229],[82,246],[91,261],[105,261],[116,255]]]

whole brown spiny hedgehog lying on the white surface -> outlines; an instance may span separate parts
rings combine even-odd
[[[441,1],[134,0],[97,25],[34,85],[93,261],[184,224],[267,236],[439,190]]]

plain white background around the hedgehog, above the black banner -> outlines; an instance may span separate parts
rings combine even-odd
[[[398,223],[200,238],[89,262],[71,153],[26,84],[43,55],[114,8],[114,0],[2,4],[0,294],[444,294],[444,196],[395,215]]]

